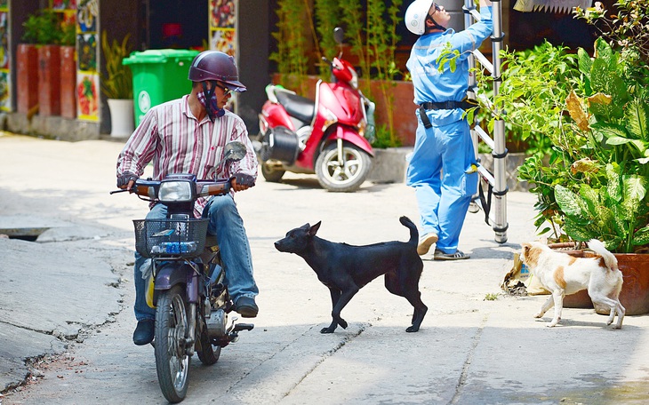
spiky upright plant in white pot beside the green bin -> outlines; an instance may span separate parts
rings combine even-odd
[[[131,54],[129,36],[124,36],[121,43],[115,39],[108,43],[106,31],[101,33],[101,50],[106,63],[106,75],[100,76],[101,92],[108,99],[110,135],[119,138],[131,135],[135,121],[131,68],[122,63]]]

